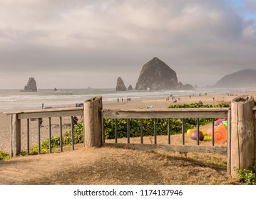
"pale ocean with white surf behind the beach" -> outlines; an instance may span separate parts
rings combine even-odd
[[[246,89],[250,90],[250,89]],[[254,89],[255,90],[255,89]],[[101,95],[103,102],[114,101],[117,98],[146,99],[173,96],[188,96],[208,93],[225,94],[245,92],[245,89],[208,89],[198,88],[195,90],[159,90],[159,91],[125,91],[117,92],[113,89],[60,89],[57,91],[43,89],[38,92],[21,92],[19,90],[0,90],[0,112],[15,111],[17,109],[40,109],[44,107],[74,106],[86,99]]]

